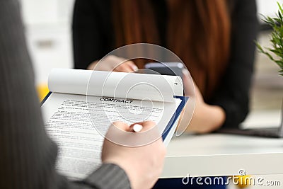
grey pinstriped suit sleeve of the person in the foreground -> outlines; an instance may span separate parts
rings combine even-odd
[[[0,26],[0,188],[129,188],[113,164],[76,183],[55,171],[57,146],[43,126],[18,1],[0,0]]]

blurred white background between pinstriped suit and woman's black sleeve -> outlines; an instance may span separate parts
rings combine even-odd
[[[74,0],[21,0],[36,84],[46,84],[54,67],[72,67],[71,18]]]

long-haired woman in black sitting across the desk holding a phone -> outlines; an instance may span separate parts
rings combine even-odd
[[[76,0],[72,30],[76,69],[93,69],[115,48],[137,42],[175,52],[197,86],[190,131],[238,127],[248,114],[258,30],[255,0]],[[99,69],[144,67],[132,61],[114,67],[121,57],[105,60]]]

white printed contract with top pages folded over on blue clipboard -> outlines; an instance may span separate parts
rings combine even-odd
[[[57,170],[73,180],[101,164],[112,122],[152,120],[167,145],[185,105],[179,76],[54,69],[48,86],[52,93],[42,104],[47,134],[59,147]]]

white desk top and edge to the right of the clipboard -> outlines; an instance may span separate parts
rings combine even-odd
[[[283,139],[231,134],[183,135],[171,140],[161,178],[283,173]]]

